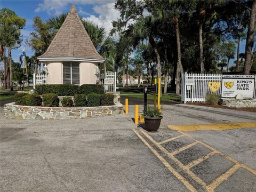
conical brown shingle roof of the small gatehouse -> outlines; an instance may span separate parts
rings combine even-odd
[[[75,5],[67,15],[58,33],[39,60],[75,58],[77,60],[103,61],[104,59],[95,49],[81,19],[78,17]]]

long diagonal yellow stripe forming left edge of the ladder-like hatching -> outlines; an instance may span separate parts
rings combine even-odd
[[[199,177],[197,177],[192,171],[190,171],[189,169],[186,169],[186,167],[173,155],[171,155],[169,153],[169,151],[167,151],[163,146],[159,145],[159,143],[157,143],[153,138],[150,137],[150,135],[148,135],[143,129],[140,129],[140,131],[151,141],[153,142],[160,150],[163,151],[163,153],[165,153],[170,159],[172,159],[172,161],[174,161],[175,163],[177,163],[179,165],[179,167],[181,169],[183,169],[192,179],[194,179],[197,183],[199,183],[200,185],[202,185],[204,188],[206,187],[206,183],[200,179]]]

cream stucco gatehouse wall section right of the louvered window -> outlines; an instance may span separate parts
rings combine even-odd
[[[98,77],[94,75],[94,69],[98,63],[81,62],[80,63],[80,85],[96,84]]]

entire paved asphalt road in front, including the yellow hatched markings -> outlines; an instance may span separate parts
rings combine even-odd
[[[162,112],[156,133],[133,124],[133,105],[129,115],[66,121],[7,120],[1,112],[0,189],[256,190],[256,129],[167,129],[170,124],[255,122],[255,113],[186,105],[163,105]]]

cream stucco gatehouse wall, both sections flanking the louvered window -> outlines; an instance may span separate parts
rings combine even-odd
[[[47,84],[63,84],[62,62],[54,61],[47,62],[48,74],[46,78]],[[81,62],[79,68],[80,85],[96,84],[98,77],[94,75],[94,69],[97,68],[98,63]]]

